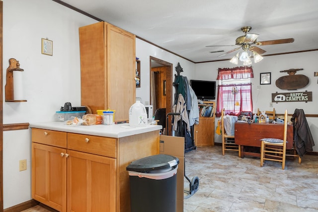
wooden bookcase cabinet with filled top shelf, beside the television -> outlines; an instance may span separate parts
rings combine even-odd
[[[202,114],[204,108],[211,108],[211,115]],[[215,121],[215,102],[203,101],[203,104],[199,104],[200,117],[199,124],[194,125],[194,141],[196,146],[212,146],[214,145],[214,121]],[[203,111],[204,112],[204,111]]]

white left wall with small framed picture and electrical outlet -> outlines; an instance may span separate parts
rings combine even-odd
[[[80,105],[78,31],[95,22],[52,0],[3,0],[3,124],[53,121],[64,102]],[[53,41],[53,56],[41,54],[41,38]],[[24,69],[15,85],[27,102],[4,102],[10,58]],[[27,170],[20,172],[21,159]],[[31,130],[5,131],[3,207],[30,199]]]

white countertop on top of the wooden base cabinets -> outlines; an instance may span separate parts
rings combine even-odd
[[[65,125],[64,122],[30,123],[30,127],[111,138],[122,138],[162,129],[161,125],[130,127],[128,123],[125,123],[117,125],[70,126]]]

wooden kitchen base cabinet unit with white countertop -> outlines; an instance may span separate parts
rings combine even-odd
[[[32,198],[60,212],[130,212],[134,160],[159,154],[161,126],[31,123]]]

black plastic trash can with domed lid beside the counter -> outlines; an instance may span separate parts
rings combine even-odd
[[[175,212],[177,157],[158,154],[131,162],[131,212]]]

